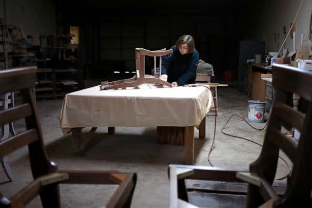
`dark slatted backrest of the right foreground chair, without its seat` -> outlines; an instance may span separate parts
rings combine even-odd
[[[263,187],[262,198],[273,199],[276,207],[300,207],[311,203],[312,190],[312,73],[295,67],[274,64],[272,66],[272,86],[274,102],[265,133],[263,148],[259,158],[250,164],[251,173],[257,173]],[[296,94],[306,104],[296,110],[291,105]],[[289,102],[290,101],[290,102]],[[284,127],[284,128],[282,128]],[[287,137],[284,129],[294,127],[300,132],[299,142]],[[287,190],[278,196],[271,188],[282,150],[293,163],[291,174],[287,177]],[[252,185],[250,185],[252,186]],[[249,188],[247,206],[258,206],[262,202]],[[258,195],[260,195],[258,193]],[[252,204],[252,205],[251,205]]]

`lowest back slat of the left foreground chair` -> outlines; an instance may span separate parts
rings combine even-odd
[[[22,134],[11,137],[4,142],[0,143],[0,158],[9,155],[15,150],[30,144],[39,139],[36,129],[30,129]]]

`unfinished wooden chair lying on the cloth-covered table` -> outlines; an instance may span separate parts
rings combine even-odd
[[[161,70],[162,67],[162,58],[161,56],[172,53],[172,49],[166,50],[155,50],[150,51],[144,48],[135,48],[135,67],[136,67],[136,74],[134,77],[125,80],[118,80],[113,82],[102,82],[101,89],[118,89],[118,88],[126,88],[126,87],[137,87],[138,85],[144,83],[155,83],[166,85],[171,87],[171,84],[161,80],[160,78],[156,78],[153,75],[145,74],[145,55],[153,56],[154,57],[154,70],[156,70],[156,57],[160,57],[159,61],[159,68]],[[161,71],[160,71],[161,74]]]

